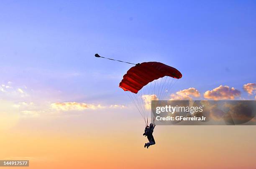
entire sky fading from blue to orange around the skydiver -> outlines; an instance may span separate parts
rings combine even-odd
[[[176,67],[174,94],[194,87],[205,99],[226,85],[241,92],[235,99],[254,99],[243,85],[256,82],[255,1],[6,0],[0,11],[0,159],[34,168],[69,168],[69,158],[91,168],[256,166],[253,126],[161,126],[146,152],[140,114],[118,87],[131,65],[94,57]],[[63,102],[77,107],[54,109]]]

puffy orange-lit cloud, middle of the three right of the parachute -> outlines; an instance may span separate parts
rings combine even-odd
[[[234,99],[241,95],[241,92],[234,87],[222,86],[216,87],[212,90],[207,90],[204,93],[206,99],[222,100],[222,99]]]

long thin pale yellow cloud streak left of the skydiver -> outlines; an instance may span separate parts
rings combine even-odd
[[[70,111],[70,110],[85,110],[85,109],[105,109],[105,108],[125,108],[124,105],[118,105],[113,104],[110,106],[101,106],[100,104],[86,104],[86,103],[78,103],[78,102],[58,102],[58,103],[52,103],[51,108],[55,110],[61,110],[61,111]]]

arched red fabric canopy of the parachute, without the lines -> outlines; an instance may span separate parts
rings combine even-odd
[[[164,65],[160,62],[143,62],[131,67],[131,69],[127,71],[119,87],[124,91],[138,93],[138,91],[149,82],[165,76],[180,79],[182,74],[174,67]]]

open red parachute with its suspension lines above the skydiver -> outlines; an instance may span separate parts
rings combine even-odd
[[[148,125],[151,100],[163,100],[172,86],[182,77],[179,70],[160,62],[143,62],[131,67],[119,87],[128,94]],[[177,79],[177,80],[174,80]],[[153,123],[155,116],[153,117]]]

